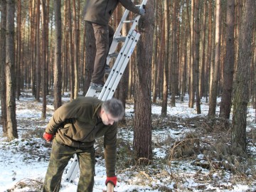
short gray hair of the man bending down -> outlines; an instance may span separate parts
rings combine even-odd
[[[102,108],[106,113],[110,113],[112,117],[119,120],[124,117],[124,106],[120,100],[112,98],[102,103]]]

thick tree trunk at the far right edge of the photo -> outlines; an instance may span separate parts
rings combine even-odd
[[[249,102],[250,63],[252,60],[252,26],[255,0],[246,0],[239,34],[238,77],[235,82],[231,143],[233,149],[246,152],[246,117]]]

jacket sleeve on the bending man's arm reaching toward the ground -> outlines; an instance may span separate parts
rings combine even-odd
[[[117,123],[114,123],[105,133],[104,154],[107,176],[115,176],[115,165],[117,161]]]

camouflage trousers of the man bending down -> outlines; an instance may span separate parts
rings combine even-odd
[[[95,149],[93,147],[75,149],[63,146],[53,140],[50,161],[43,183],[43,192],[55,192],[60,190],[60,181],[65,166],[74,154],[78,156],[80,178],[78,181],[78,192],[92,192],[95,174]]]

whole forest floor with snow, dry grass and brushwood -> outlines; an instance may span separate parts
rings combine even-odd
[[[0,191],[41,191],[50,156],[50,144],[41,135],[53,114],[53,97],[47,100],[47,118],[42,120],[42,103],[30,92],[22,92],[16,102],[18,139],[6,142],[0,125]],[[68,95],[63,97],[63,102],[68,100]],[[177,99],[176,107],[168,107],[168,115],[161,117],[161,105],[153,104],[153,159],[136,159],[132,151],[134,107],[128,101],[126,121],[119,123],[115,191],[256,191],[255,110],[248,108],[247,154],[231,148],[230,121],[209,119],[204,100],[201,110],[202,114],[196,114],[185,97],[183,102]],[[105,189],[102,139],[97,139],[95,149],[97,192]],[[78,177],[74,183],[64,181],[69,168],[70,164],[63,174],[61,192],[76,191]]]

